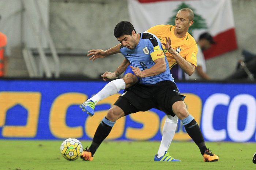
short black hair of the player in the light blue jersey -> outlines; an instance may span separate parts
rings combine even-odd
[[[121,21],[114,29],[114,36],[116,38],[122,35],[132,35],[132,31],[135,31],[133,25],[128,21]],[[136,33],[136,31],[135,31]]]

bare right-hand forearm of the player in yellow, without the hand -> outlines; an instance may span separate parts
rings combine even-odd
[[[182,56],[176,51],[172,51],[171,54],[173,55],[173,58],[176,60],[177,64],[185,73],[187,73],[188,75],[192,75],[195,72],[195,65],[189,63],[187,60],[182,58]]]

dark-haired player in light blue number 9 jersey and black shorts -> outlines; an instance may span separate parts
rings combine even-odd
[[[94,134],[91,146],[86,147],[81,158],[86,161],[93,160],[99,145],[109,135],[119,118],[157,108],[167,115],[173,117],[176,115],[180,118],[187,133],[203,153],[205,161],[218,161],[218,156],[207,149],[197,122],[186,108],[184,96],[180,94],[173,81],[158,38],[150,33],[136,33],[133,25],[128,21],[121,21],[116,25],[114,36],[122,44],[120,52],[125,56],[125,60],[131,63],[130,68],[140,80],[121,95],[108,110]],[[166,38],[166,42],[165,47],[168,50],[170,39]],[[123,82],[121,86],[125,86],[125,83]],[[164,159],[171,161],[173,158]]]

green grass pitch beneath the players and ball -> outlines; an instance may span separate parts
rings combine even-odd
[[[160,142],[103,142],[93,161],[67,161],[60,154],[63,141],[0,140],[0,169],[3,170],[249,170],[256,169],[252,156],[256,143],[206,142],[218,162],[203,162],[193,142],[172,142],[169,153],[181,162],[154,162]],[[83,147],[90,141],[81,141]]]

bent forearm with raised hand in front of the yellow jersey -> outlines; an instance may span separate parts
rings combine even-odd
[[[181,67],[181,69],[185,71],[185,73],[187,73],[189,76],[191,76],[195,72],[196,66],[192,63],[189,63],[187,60],[182,58],[180,54],[178,54],[175,50],[173,50],[171,46],[170,37],[168,38],[165,37],[165,39],[166,39],[166,44],[165,43],[162,43],[162,44],[165,46],[166,50],[168,50],[168,52],[173,55],[173,58],[176,60],[178,65]]]

